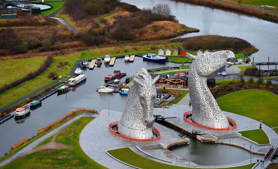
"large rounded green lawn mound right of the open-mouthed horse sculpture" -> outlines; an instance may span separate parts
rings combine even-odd
[[[269,127],[278,126],[278,96],[266,90],[248,89],[226,94],[216,99],[221,110],[255,120]]]

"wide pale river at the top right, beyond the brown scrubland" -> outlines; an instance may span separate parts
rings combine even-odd
[[[258,17],[193,3],[171,0],[122,0],[138,8],[152,8],[158,3],[168,3],[179,23],[200,29],[200,32],[185,34],[181,37],[199,35],[221,35],[247,40],[258,52],[251,55],[254,62],[276,62],[278,45],[278,24],[264,21]],[[210,49],[211,51],[213,49]],[[272,66],[270,66],[271,68]],[[273,67],[272,67],[273,68]],[[266,68],[267,69],[267,68]],[[275,66],[274,66],[275,69]]]

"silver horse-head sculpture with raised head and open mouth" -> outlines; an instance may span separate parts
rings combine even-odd
[[[201,56],[187,54],[194,59],[189,68],[188,77],[189,95],[193,108],[192,120],[207,127],[228,128],[227,117],[211,94],[207,80],[215,77],[224,66],[232,66],[235,54],[232,51],[217,51]]]

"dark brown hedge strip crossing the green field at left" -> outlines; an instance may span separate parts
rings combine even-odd
[[[45,60],[43,65],[40,68],[38,68],[35,72],[31,72],[31,73],[29,73],[28,75],[26,75],[25,77],[23,77],[21,79],[13,81],[10,84],[6,84],[2,88],[0,88],[0,93],[4,92],[4,91],[6,91],[6,90],[8,90],[10,88],[13,88],[13,87],[15,87],[15,86],[25,82],[25,81],[33,79],[34,77],[36,77],[38,75],[40,75],[41,73],[43,73],[51,65],[52,61],[53,61],[53,55],[48,55],[47,59]]]

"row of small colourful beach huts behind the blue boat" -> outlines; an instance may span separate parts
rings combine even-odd
[[[216,52],[217,50],[213,50],[213,52]],[[204,51],[204,53],[210,53],[211,51],[209,50],[209,49],[206,49],[206,51]],[[200,55],[202,55],[203,54],[203,50],[202,49],[199,49],[198,51],[197,51],[197,56],[200,56]],[[186,51],[185,51],[185,49],[181,49],[181,50],[179,50],[179,49],[174,49],[173,51],[172,51],[172,49],[170,49],[170,48],[168,48],[168,49],[166,49],[166,51],[163,49],[163,48],[161,48],[161,49],[159,49],[158,50],[158,56],[186,56]]]

